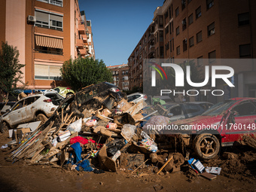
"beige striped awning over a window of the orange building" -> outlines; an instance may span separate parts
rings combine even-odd
[[[41,47],[63,49],[62,38],[51,38],[42,35],[35,35],[35,44]]]

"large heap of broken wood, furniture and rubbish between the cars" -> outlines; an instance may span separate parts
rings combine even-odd
[[[127,102],[125,94],[108,83],[85,87],[65,99],[33,132],[21,132],[8,160],[94,172],[121,167],[135,171],[150,160],[171,171],[184,163],[184,157],[159,150],[155,133],[142,131],[145,117],[155,113],[143,116],[143,102]]]

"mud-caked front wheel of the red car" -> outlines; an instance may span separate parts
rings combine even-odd
[[[203,160],[210,160],[220,151],[220,142],[212,134],[199,135],[194,140],[194,151]]]

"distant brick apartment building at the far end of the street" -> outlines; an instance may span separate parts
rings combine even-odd
[[[128,65],[122,64],[117,66],[107,66],[111,70],[113,84],[120,87],[121,90],[129,90]]]

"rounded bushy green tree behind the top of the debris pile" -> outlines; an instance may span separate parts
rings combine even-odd
[[[60,71],[63,81],[66,81],[75,91],[90,84],[112,81],[111,71],[102,59],[100,61],[93,58],[69,59],[63,63]]]

